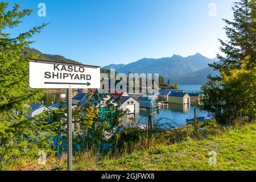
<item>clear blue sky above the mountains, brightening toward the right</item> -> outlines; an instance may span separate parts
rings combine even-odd
[[[196,52],[216,57],[218,38],[226,40],[221,18],[233,18],[233,0],[23,0],[22,5],[36,9],[42,2],[46,17],[35,10],[9,32],[15,36],[51,22],[31,47],[100,66]],[[210,3],[216,4],[216,17],[209,16]]]

